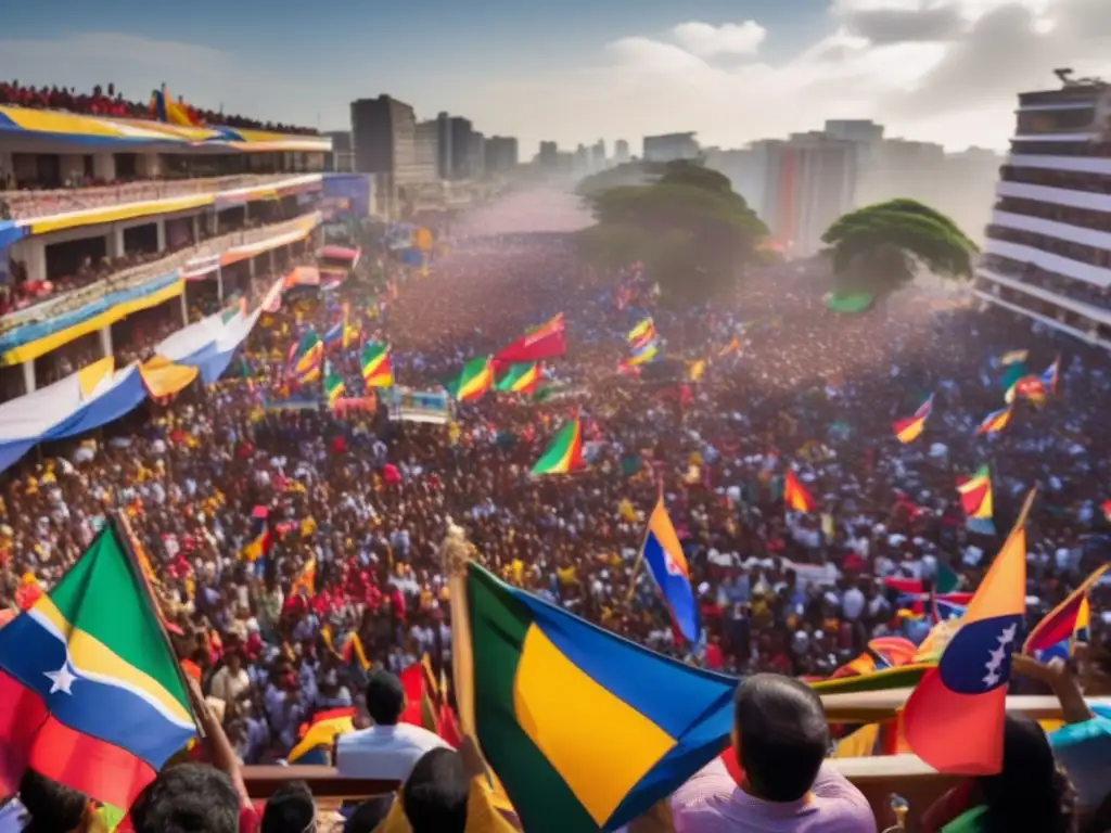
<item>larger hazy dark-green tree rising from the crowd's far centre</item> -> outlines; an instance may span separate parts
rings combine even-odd
[[[598,223],[582,232],[587,258],[607,267],[642,261],[664,298],[703,301],[733,284],[768,229],[728,178],[671,162],[645,184],[584,194]]]

